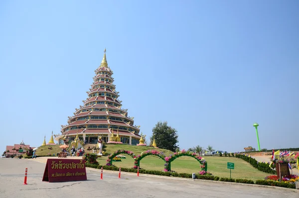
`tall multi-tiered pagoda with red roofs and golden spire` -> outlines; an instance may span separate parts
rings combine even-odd
[[[79,139],[85,144],[97,144],[99,136],[105,143],[139,144],[140,126],[134,126],[134,117],[128,117],[128,109],[122,109],[119,92],[113,84],[113,71],[107,63],[106,49],[95,73],[94,82],[86,92],[88,98],[82,101],[83,106],[75,109],[73,116],[68,117],[68,124],[61,125],[61,135],[54,139],[58,144],[63,144],[64,136],[73,141],[78,133]]]

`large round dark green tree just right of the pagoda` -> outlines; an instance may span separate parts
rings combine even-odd
[[[150,137],[151,144],[153,138],[158,148],[168,149],[172,152],[174,152],[176,148],[178,148],[177,131],[174,128],[168,126],[167,122],[158,122],[152,128],[152,136]]]

